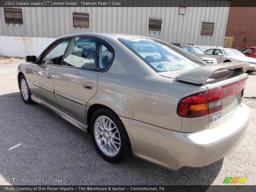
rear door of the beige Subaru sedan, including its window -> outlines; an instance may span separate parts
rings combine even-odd
[[[97,92],[96,42],[90,37],[71,40],[55,72],[54,92],[60,109],[85,122],[85,105]]]

